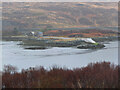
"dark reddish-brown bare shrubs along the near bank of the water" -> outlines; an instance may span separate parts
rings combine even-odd
[[[73,70],[35,67],[17,72],[5,66],[3,88],[118,88],[118,66],[110,62],[91,63]]]

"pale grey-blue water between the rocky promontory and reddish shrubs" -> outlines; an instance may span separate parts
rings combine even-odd
[[[69,69],[84,67],[91,62],[109,61],[118,64],[118,42],[105,44],[104,49],[89,50],[54,47],[46,50],[25,50],[20,42],[2,42],[2,66],[13,65],[19,70],[35,66],[57,65]]]

